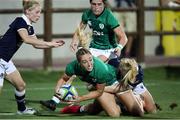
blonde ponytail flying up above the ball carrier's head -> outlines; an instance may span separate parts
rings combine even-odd
[[[79,39],[79,47],[88,48],[92,37],[92,32],[85,32],[80,26],[77,28],[77,36]]]

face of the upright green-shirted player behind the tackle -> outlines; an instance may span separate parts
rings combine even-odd
[[[104,10],[103,0],[92,0],[91,10],[93,11],[94,15],[100,15]]]

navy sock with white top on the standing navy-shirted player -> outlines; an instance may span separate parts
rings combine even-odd
[[[17,91],[15,89],[15,98],[16,98],[18,110],[24,111],[26,109],[26,106],[25,106],[25,90],[20,92],[20,91]]]

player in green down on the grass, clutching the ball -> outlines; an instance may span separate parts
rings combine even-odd
[[[121,109],[115,101],[115,95],[117,94],[120,96],[119,98],[124,101],[129,112],[133,115],[143,115],[143,109],[131,90],[122,92],[122,94],[121,90],[116,91],[116,94],[104,92],[107,86],[114,88],[114,86],[119,85],[116,79],[116,68],[93,57],[90,51],[85,48],[77,51],[76,58],[77,60],[72,61],[66,66],[65,74],[58,80],[55,93],[72,75],[76,75],[80,80],[92,84],[95,89],[85,95],[78,96],[73,101],[69,101],[71,104],[78,104],[81,101],[95,99],[101,104],[103,110],[109,116],[119,117]],[[56,105],[60,102],[61,98],[55,94],[51,100],[41,101],[40,103],[51,110],[55,110]]]

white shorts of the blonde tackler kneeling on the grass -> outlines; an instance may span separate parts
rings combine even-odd
[[[147,88],[144,86],[143,83],[139,83],[134,89],[133,89],[133,93],[135,95],[140,95],[142,93],[144,93],[147,90]]]

